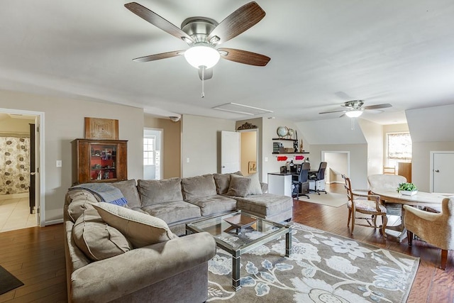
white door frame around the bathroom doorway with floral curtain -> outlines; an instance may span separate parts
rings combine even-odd
[[[35,116],[35,126],[39,127],[37,133],[38,136],[35,137],[36,147],[35,153],[38,155],[36,157],[36,181],[38,183],[35,187],[35,209],[36,209],[36,221],[38,226],[45,226],[45,144],[44,144],[44,112],[43,111],[27,111],[23,109],[3,109],[0,108],[0,112],[4,114],[19,114],[19,115],[28,115]]]

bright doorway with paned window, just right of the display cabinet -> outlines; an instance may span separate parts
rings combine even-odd
[[[162,128],[143,129],[143,179],[162,179]]]

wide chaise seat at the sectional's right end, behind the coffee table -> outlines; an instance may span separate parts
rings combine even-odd
[[[257,194],[235,199],[238,209],[262,216],[273,216],[293,207],[292,197],[278,194]]]

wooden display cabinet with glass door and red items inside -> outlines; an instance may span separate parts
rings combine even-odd
[[[128,141],[72,141],[73,184],[128,180]]]

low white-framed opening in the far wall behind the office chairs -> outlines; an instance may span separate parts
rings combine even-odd
[[[326,184],[343,184],[342,175],[350,175],[350,152],[322,150],[321,160],[328,164],[328,167],[326,167]]]

